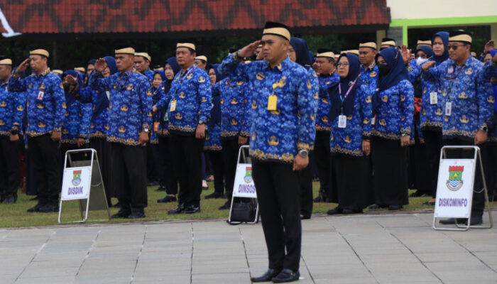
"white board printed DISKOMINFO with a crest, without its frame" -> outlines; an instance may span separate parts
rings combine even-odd
[[[440,160],[435,217],[468,218],[473,200],[474,160]]]

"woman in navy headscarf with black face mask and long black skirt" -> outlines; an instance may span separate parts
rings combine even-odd
[[[399,50],[381,50],[375,60],[379,74],[371,129],[373,193],[378,207],[398,210],[409,202],[406,146],[413,124],[414,88]]]

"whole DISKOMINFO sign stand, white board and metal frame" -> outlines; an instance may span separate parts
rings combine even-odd
[[[473,158],[447,158],[447,149],[473,150]],[[471,226],[471,205],[473,203],[474,180],[476,167],[481,170],[484,188],[476,189],[484,192],[488,225]],[[456,219],[455,227],[437,226],[439,218]],[[458,224],[457,219],[467,219],[466,225]],[[433,214],[433,229],[444,231],[467,231],[469,228],[490,229],[493,226],[490,202],[485,182],[484,166],[481,162],[481,152],[478,146],[444,146],[440,151],[440,166],[437,182],[437,199],[435,214]]]

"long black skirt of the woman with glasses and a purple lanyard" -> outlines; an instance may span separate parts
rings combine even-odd
[[[332,196],[342,209],[361,210],[373,203],[371,160],[368,156],[332,154]]]

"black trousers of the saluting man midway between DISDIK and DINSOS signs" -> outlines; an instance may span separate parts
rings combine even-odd
[[[180,182],[178,204],[200,207],[202,193],[202,148],[204,139],[195,136],[171,134],[170,153],[175,163],[175,174]]]

